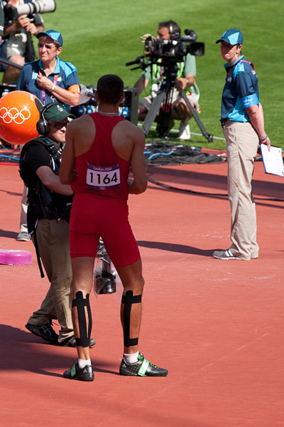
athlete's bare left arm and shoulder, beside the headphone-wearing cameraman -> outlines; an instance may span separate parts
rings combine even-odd
[[[94,142],[94,122],[88,115],[72,120],[66,131],[66,144],[62,153],[59,177],[62,184],[72,184],[76,177],[75,157],[84,154]]]

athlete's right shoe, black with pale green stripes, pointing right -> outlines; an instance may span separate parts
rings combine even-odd
[[[130,376],[167,376],[168,370],[156,367],[148,362],[143,357],[143,354],[139,353],[138,362],[127,363],[125,359],[121,360],[119,374]]]

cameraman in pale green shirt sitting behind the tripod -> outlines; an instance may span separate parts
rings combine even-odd
[[[157,39],[162,40],[170,40],[175,38],[176,36],[180,36],[180,26],[175,21],[162,21],[158,24],[158,34]],[[198,110],[198,99],[199,93],[197,86],[195,85],[195,76],[196,76],[196,63],[195,56],[187,54],[184,58],[183,62],[178,63],[178,75],[177,80],[174,85],[174,93],[173,93],[173,104],[171,105],[171,113],[170,113],[170,125],[169,129],[173,127],[173,120],[181,120],[180,129],[179,129],[179,138],[181,140],[190,139],[190,126],[188,125],[188,121],[192,117],[192,114],[187,107],[185,101],[180,96],[180,91],[185,90],[187,94],[188,100],[191,105]],[[153,103],[153,97],[158,93],[160,88],[160,84],[165,79],[165,75],[163,75],[163,62],[159,61],[161,65],[153,64],[153,68],[151,70],[151,66],[149,65],[146,70],[143,71],[141,77],[136,81],[134,88],[138,89],[138,95],[140,95],[143,90],[147,87],[149,81],[152,79],[152,87],[151,87],[151,95],[139,100],[138,103],[138,119],[145,120],[145,117],[150,110],[151,105]],[[152,75],[151,75],[152,71]]]

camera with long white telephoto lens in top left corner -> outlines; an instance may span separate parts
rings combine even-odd
[[[9,26],[21,15],[46,14],[56,9],[55,0],[32,0],[16,7],[4,1],[4,26]]]

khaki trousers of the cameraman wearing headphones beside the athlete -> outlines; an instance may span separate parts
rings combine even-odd
[[[28,322],[33,325],[45,325],[50,319],[57,319],[60,323],[58,342],[62,342],[74,335],[70,308],[72,266],[69,224],[56,219],[40,219],[35,233],[50,288],[40,309],[33,313]]]

